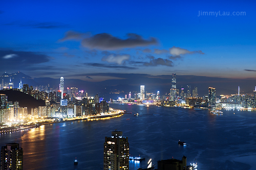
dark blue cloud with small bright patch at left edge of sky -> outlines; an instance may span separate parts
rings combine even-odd
[[[1,69],[26,69],[35,64],[50,61],[50,57],[34,52],[22,52],[12,50],[0,50]],[[35,68],[36,69],[36,68]]]

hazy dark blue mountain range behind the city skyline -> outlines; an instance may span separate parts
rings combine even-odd
[[[90,76],[90,75],[89,75]],[[96,75],[97,76],[97,75]],[[106,100],[117,99],[118,97],[124,98],[125,94],[131,91],[134,94],[136,91],[140,92],[140,85],[145,85],[146,92],[157,93],[160,95],[169,93],[171,86],[172,75],[151,76],[147,74],[117,74],[117,73],[104,73],[98,76],[113,77],[111,80],[104,80],[101,82],[90,82],[80,79],[65,79],[65,89],[67,87],[77,87],[79,90],[87,91],[89,95],[99,94]],[[60,79],[53,78],[34,78],[16,72],[14,74],[3,74],[3,79],[6,82],[11,81],[14,83],[14,88],[18,88],[18,83],[22,80],[23,84],[29,86],[47,86],[49,84],[53,89],[58,89]],[[199,96],[208,94],[208,87],[215,87],[216,94],[236,94],[238,93],[238,86],[240,86],[241,93],[253,93],[256,80],[254,79],[228,79],[218,77],[205,77],[205,76],[182,76],[177,75],[177,88],[180,90],[184,88],[186,92],[186,85],[191,85],[191,90],[195,86],[198,87]],[[133,98],[133,96],[132,96]]]

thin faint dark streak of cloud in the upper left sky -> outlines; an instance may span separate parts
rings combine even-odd
[[[20,27],[31,27],[31,28],[38,28],[38,29],[58,29],[58,28],[68,28],[69,26],[65,23],[60,22],[27,22],[27,23],[20,23],[18,21],[7,23],[6,25],[18,25]]]

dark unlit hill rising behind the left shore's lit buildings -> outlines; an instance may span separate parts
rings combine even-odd
[[[19,102],[19,107],[27,107],[28,114],[31,114],[31,108],[36,108],[38,106],[45,106],[45,101],[36,100],[33,96],[26,94],[17,90],[0,90],[1,94],[6,94],[7,99],[10,102]]]

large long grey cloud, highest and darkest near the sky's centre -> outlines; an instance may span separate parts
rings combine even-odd
[[[90,37],[84,37],[84,33],[78,33],[74,31],[68,31],[64,38],[59,41],[65,40],[80,40],[82,46],[90,49],[99,49],[99,50],[117,50],[121,48],[131,48],[137,46],[148,46],[148,45],[156,45],[158,41],[156,38],[144,39],[142,36],[129,33],[127,34],[127,39],[121,39],[118,37],[114,37],[108,33],[101,33],[92,35]]]

